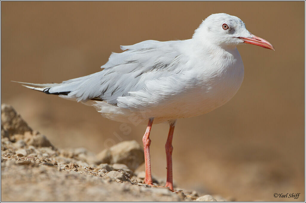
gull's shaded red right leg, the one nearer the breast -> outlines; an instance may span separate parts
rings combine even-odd
[[[168,138],[166,141],[166,157],[167,157],[167,182],[166,187],[169,187],[171,190],[173,190],[173,180],[172,180],[172,138],[173,138],[173,131],[175,127],[176,120],[170,123],[170,129]]]

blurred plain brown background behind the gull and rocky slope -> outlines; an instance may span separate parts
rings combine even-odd
[[[98,153],[137,140],[93,107],[12,83],[61,82],[100,71],[119,45],[189,39],[211,13],[241,18],[275,51],[239,46],[244,82],[230,102],[177,122],[174,182],[240,201],[304,200],[304,2],[1,2],[1,103],[13,105],[56,147]],[[120,137],[114,136],[118,133]],[[168,125],[151,133],[153,175],[166,178]],[[113,141],[110,141],[110,139]],[[144,167],[143,167],[144,168]]]

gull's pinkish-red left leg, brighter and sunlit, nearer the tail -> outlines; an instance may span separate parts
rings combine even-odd
[[[150,162],[150,144],[151,140],[149,138],[150,131],[152,127],[154,118],[149,119],[149,123],[147,126],[147,130],[144,133],[144,137],[142,138],[142,142],[144,143],[144,164],[145,164],[145,170],[146,170],[146,176],[144,178],[144,183],[147,185],[153,185],[152,176],[151,176],[151,162]]]

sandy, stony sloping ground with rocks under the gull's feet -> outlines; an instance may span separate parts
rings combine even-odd
[[[1,106],[1,201],[226,201],[219,195],[143,183],[142,147],[124,141],[95,155],[57,149],[13,107]],[[165,181],[153,177],[154,184]]]

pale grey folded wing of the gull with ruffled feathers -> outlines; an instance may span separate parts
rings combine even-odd
[[[117,104],[117,98],[144,87],[145,82],[182,71],[187,62],[177,48],[180,41],[148,40],[121,46],[122,53],[112,53],[103,71],[65,81],[50,88],[52,92],[69,92],[67,97],[86,102],[90,99]]]

